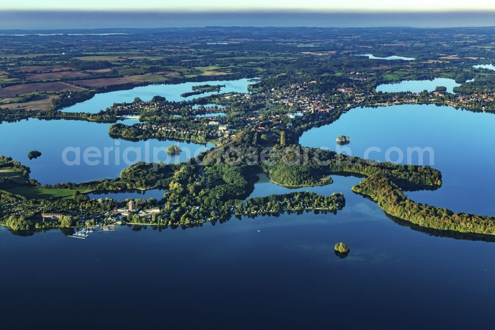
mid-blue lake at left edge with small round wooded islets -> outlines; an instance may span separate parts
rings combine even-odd
[[[110,125],[78,120],[39,119],[3,123],[0,125],[0,141],[8,141],[8,143],[0,144],[0,155],[10,156],[29,166],[31,177],[42,184],[68,181],[81,183],[118,177],[122,169],[137,161],[185,162],[212,147],[212,145],[169,140],[150,139],[133,142],[113,139],[108,135]],[[167,154],[166,147],[171,144],[178,144],[183,152],[178,156]],[[64,150],[67,148],[69,151],[65,160],[69,163],[64,162],[63,158]],[[105,148],[108,151],[107,157],[105,157]],[[39,150],[42,156],[29,160],[28,152],[34,149]],[[85,162],[85,152],[89,162]],[[89,157],[98,155],[97,153],[100,157]],[[154,157],[155,153],[156,157]],[[77,157],[79,164],[76,163]]]

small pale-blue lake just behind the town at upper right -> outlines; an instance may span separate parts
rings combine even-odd
[[[469,80],[472,81],[472,80]],[[413,92],[420,93],[424,90],[432,92],[438,86],[447,88],[448,93],[453,93],[454,87],[460,86],[454,79],[435,78],[433,80],[403,80],[398,83],[381,84],[376,87],[377,92],[395,93],[395,92]]]

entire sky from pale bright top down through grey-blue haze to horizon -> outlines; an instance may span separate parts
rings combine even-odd
[[[2,30],[193,26],[495,26],[494,0],[0,1]]]

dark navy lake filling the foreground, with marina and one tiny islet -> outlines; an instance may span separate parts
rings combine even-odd
[[[478,329],[491,328],[494,243],[411,230],[344,193],[346,207],[336,215],[232,218],[186,230],[122,227],[86,240],[59,230],[21,237],[0,227],[7,252],[0,281],[8,283],[2,325],[470,329],[476,319]],[[340,241],[350,248],[345,259],[333,251]],[[20,308],[26,295],[36,306],[29,315]],[[404,322],[404,311],[420,317]]]

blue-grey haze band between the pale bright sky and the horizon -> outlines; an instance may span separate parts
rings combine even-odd
[[[96,29],[202,26],[495,26],[495,12],[0,11],[0,29]]]

